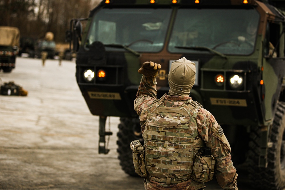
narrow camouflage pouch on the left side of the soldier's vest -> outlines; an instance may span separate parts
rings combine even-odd
[[[141,145],[139,140],[134,140],[130,143],[130,147],[133,151],[133,164],[135,172],[141,176],[146,177],[146,167],[144,161],[144,147]]]

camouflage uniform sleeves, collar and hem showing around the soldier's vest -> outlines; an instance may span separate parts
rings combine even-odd
[[[156,78],[149,79],[143,76],[134,106],[140,117],[142,132],[144,132],[146,127],[148,110],[152,102],[157,100],[156,93]],[[189,99],[192,101],[192,98],[189,96],[164,95],[164,105],[167,107],[178,107],[188,103]],[[211,153],[216,159],[215,175],[217,182],[223,189],[237,190],[237,173],[231,161],[231,148],[221,127],[214,116],[203,108],[199,109],[196,118],[199,135],[195,137],[194,148],[203,146],[211,148]],[[204,183],[199,183],[192,179],[181,179],[180,183],[170,185],[166,185],[164,182],[163,179],[148,175],[145,177],[144,187],[146,190],[197,190],[205,187]]]

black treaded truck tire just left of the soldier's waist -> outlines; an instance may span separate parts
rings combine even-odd
[[[135,172],[135,167],[133,164],[133,152],[130,148],[130,143],[133,140],[141,140],[141,136],[137,136],[134,133],[134,127],[139,124],[139,119],[135,118],[120,118],[121,123],[118,125],[119,132],[117,133],[118,140],[117,140],[117,152],[119,153],[119,160],[122,169],[125,173],[139,177],[139,175]],[[137,121],[137,122],[136,122]]]

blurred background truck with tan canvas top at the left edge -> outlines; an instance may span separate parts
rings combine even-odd
[[[16,27],[0,26],[0,70],[11,72],[19,52],[20,31]]]

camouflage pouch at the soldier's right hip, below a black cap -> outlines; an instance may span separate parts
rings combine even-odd
[[[196,153],[192,179],[200,183],[211,181],[214,176],[214,167],[215,159],[212,155],[207,157]]]

